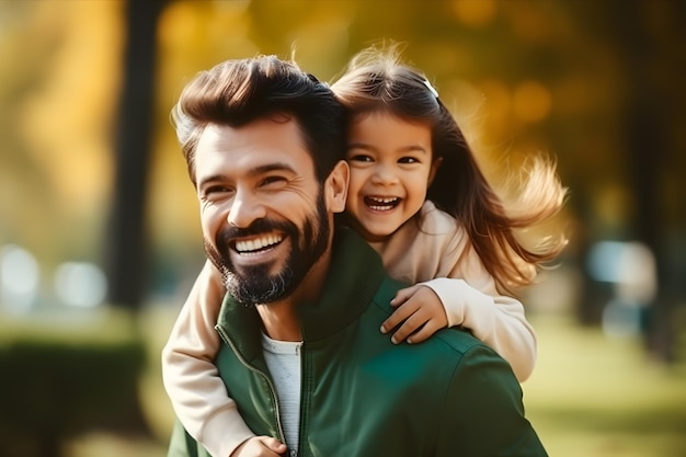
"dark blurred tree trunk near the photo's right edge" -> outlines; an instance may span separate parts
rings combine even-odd
[[[675,2],[677,3],[677,2]],[[625,110],[625,135],[629,179],[636,202],[632,226],[636,238],[645,243],[655,255],[658,295],[648,304],[645,344],[651,354],[663,362],[674,359],[674,329],[671,324],[673,311],[666,259],[666,210],[661,192],[660,176],[668,165],[671,152],[671,128],[674,118],[673,98],[661,83],[660,76],[671,69],[659,69],[659,31],[651,30],[645,8],[641,1],[616,1],[614,10],[617,23],[619,49],[627,76]],[[667,3],[672,10],[672,4]],[[683,12],[682,10],[678,10]],[[672,13],[677,12],[674,8]],[[673,18],[663,24],[667,34],[677,32],[682,23]],[[675,52],[678,52],[675,49]]]

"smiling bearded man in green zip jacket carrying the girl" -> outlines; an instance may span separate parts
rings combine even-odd
[[[201,73],[174,119],[228,294],[216,365],[256,435],[290,456],[545,456],[512,369],[469,333],[395,345],[404,285],[335,227],[347,192],[332,92],[274,57]],[[170,456],[206,456],[181,426]]]

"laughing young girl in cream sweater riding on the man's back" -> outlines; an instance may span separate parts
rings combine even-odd
[[[565,190],[554,168],[534,159],[518,201],[505,210],[436,91],[393,49],[361,53],[332,89],[350,113],[342,222],[381,255],[391,276],[420,283],[398,293],[391,301],[397,310],[380,331],[393,343],[416,344],[442,328],[462,327],[525,380],[536,335],[510,290],[531,284],[565,239],[545,238],[528,249],[515,230],[562,206]],[[207,262],[163,350],[164,386],[186,431],[211,455],[277,456],[285,446],[247,427],[213,363],[224,294]]]

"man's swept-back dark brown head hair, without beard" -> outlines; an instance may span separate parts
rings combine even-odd
[[[294,119],[320,182],[345,157],[341,103],[327,84],[275,56],[226,60],[201,71],[171,115],[194,184],[195,151],[208,124],[240,127],[265,117]]]

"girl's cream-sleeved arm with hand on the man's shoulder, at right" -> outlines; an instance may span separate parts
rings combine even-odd
[[[420,342],[446,325],[464,327],[505,358],[519,381],[530,376],[537,341],[524,306],[498,290],[455,218],[427,201],[422,228],[405,225],[380,251],[391,276],[420,283],[398,293],[391,301],[398,309],[384,322],[382,331],[404,321],[396,339],[402,341],[424,325],[412,335],[413,342]]]

